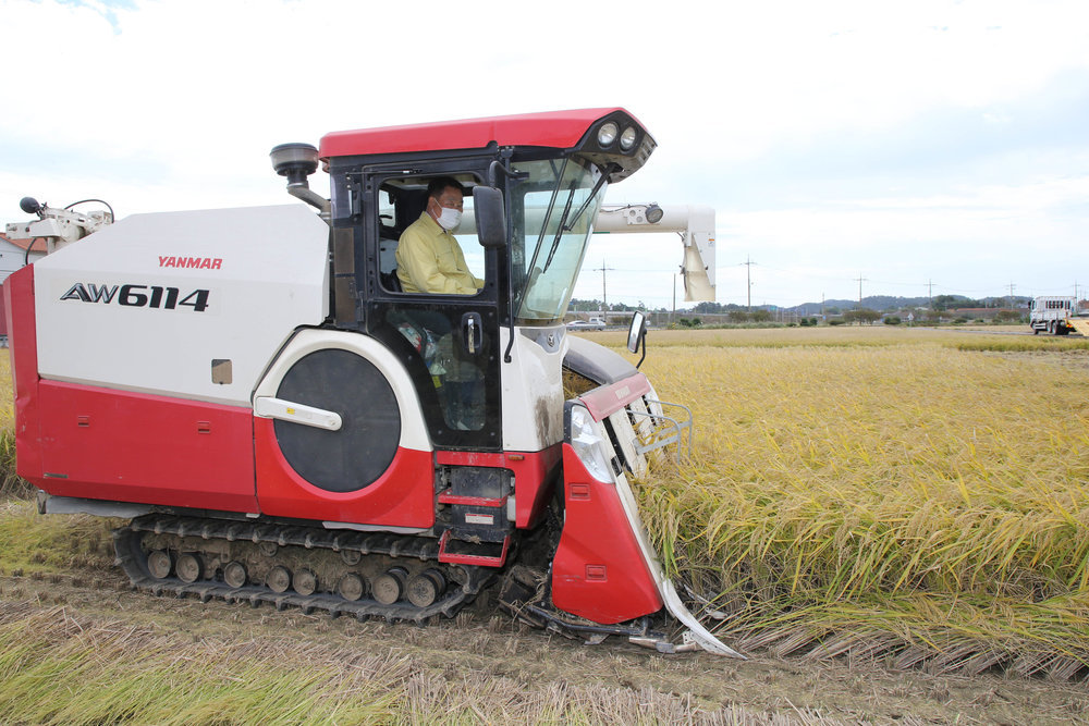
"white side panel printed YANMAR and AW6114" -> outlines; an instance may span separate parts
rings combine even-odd
[[[35,263],[39,372],[248,407],[283,342],[327,316],[328,237],[302,204],[125,218]],[[144,286],[127,302],[147,302],[122,305],[126,284]],[[158,308],[152,286],[163,288]],[[206,310],[181,305],[200,290]],[[216,359],[231,361],[230,383],[212,383]]]

